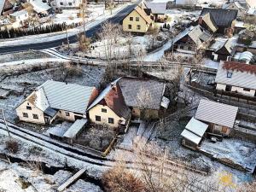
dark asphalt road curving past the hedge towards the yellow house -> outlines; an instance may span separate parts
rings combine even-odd
[[[129,5],[129,6],[127,6],[127,8],[119,11],[119,13],[117,13],[116,15],[114,15],[113,17],[109,18],[106,21],[107,22],[112,22],[114,24],[118,24],[136,6],[137,6],[137,3]],[[103,22],[105,22],[105,21],[102,21],[102,23]],[[96,35],[97,32],[100,32],[101,29],[102,29],[102,23],[99,23],[96,26],[92,26],[89,30],[87,30],[85,32],[86,36],[91,38],[93,35]],[[69,40],[70,44],[73,44],[73,43],[77,42],[78,41],[77,35],[69,36],[68,40]],[[0,47],[0,54],[25,51],[25,50],[28,50],[28,49],[49,49],[49,48],[57,47],[57,46],[61,45],[62,43],[66,43],[66,42],[67,42],[67,38],[61,38],[61,39],[57,39],[57,40],[54,40],[54,41],[38,43],[38,44],[20,44],[20,45]]]

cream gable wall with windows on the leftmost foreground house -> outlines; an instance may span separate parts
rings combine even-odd
[[[26,109],[26,106],[31,107],[32,109]],[[32,105],[31,102],[25,101],[20,104],[18,108],[16,108],[16,113],[20,120],[31,122],[35,124],[45,124],[44,121],[44,112],[41,111],[39,108],[36,108],[34,105]],[[27,113],[28,117],[23,117],[23,113]],[[38,114],[38,119],[33,119],[33,114]]]

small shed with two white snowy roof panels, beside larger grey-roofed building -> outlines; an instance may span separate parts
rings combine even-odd
[[[207,131],[208,125],[192,117],[181,133],[182,144],[191,149],[200,148],[201,142]]]

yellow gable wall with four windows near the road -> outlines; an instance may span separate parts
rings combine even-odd
[[[130,17],[133,20],[130,20]],[[139,18],[139,21],[136,21],[136,17]],[[131,29],[129,29],[129,25],[131,25]],[[137,29],[137,26],[141,26],[141,29]],[[137,13],[136,10],[133,10],[129,15],[125,17],[123,20],[123,30],[124,32],[148,32],[149,25],[143,20],[143,17]]]

